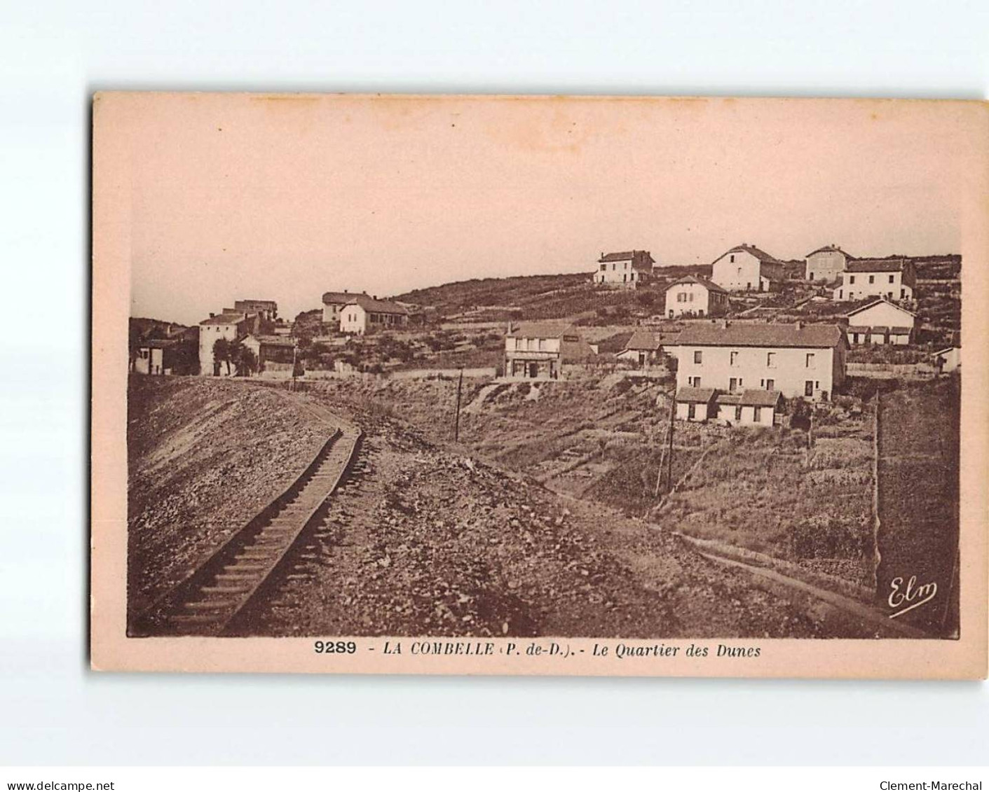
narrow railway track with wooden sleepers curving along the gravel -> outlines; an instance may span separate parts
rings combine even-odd
[[[132,634],[229,635],[250,632],[250,611],[318,538],[332,494],[360,471],[362,433],[316,405],[337,427],[292,485],[255,515],[188,578],[135,620]]]

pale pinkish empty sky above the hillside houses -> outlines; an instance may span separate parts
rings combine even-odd
[[[116,99],[116,98],[115,98]],[[125,95],[132,316],[235,299],[586,272],[959,251],[965,103]],[[970,123],[968,124],[970,130]],[[970,160],[968,160],[970,162]],[[95,177],[99,188],[99,174]]]

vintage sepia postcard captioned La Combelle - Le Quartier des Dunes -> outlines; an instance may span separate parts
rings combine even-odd
[[[986,675],[989,105],[109,92],[92,145],[95,669]]]

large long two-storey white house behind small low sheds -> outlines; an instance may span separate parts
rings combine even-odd
[[[676,387],[778,391],[826,399],[845,381],[848,342],[837,325],[736,324],[685,327],[667,350]]]

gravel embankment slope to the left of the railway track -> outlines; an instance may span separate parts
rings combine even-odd
[[[271,388],[133,376],[128,603],[133,615],[283,492],[332,430]]]

